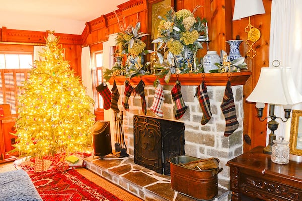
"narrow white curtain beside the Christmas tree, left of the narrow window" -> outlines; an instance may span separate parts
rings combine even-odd
[[[89,46],[82,48],[81,54],[81,77],[82,84],[86,87],[86,94],[93,99],[92,77],[91,77],[91,60]]]

